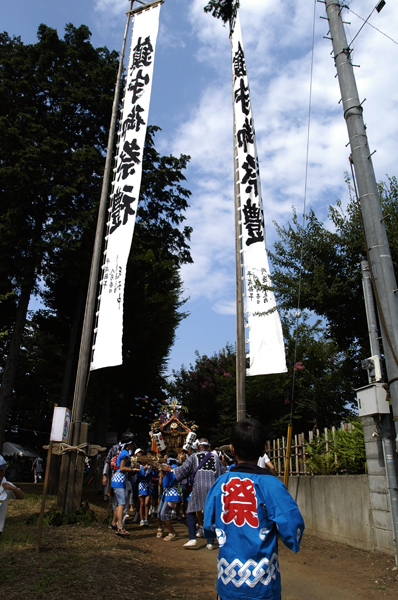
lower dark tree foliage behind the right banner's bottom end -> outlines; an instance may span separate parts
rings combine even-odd
[[[336,342],[323,336],[320,323],[303,322],[297,334],[300,361],[293,364],[293,322],[284,320],[288,373],[246,379],[247,413],[265,426],[269,438],[285,435],[290,421],[292,375],[295,372],[295,428],[307,432],[317,427],[338,427],[352,415],[361,373],[355,357],[339,351]],[[236,355],[232,346],[211,357],[197,355],[195,365],[174,372],[171,395],[189,408],[200,435],[213,444],[227,443],[236,420]]]

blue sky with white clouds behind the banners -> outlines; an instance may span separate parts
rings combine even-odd
[[[187,224],[193,265],[182,269],[185,309],[171,352],[170,370],[235,342],[235,270],[232,172],[232,101],[228,30],[203,12],[206,0],[166,0],[160,11],[149,122],[159,125],[162,153],[191,155],[187,187],[192,191]],[[347,35],[362,25],[376,0],[351,0]],[[63,34],[66,23],[88,25],[92,43],[120,51],[125,0],[0,0],[0,30],[36,41],[45,23]],[[327,207],[347,201],[349,169],[340,93],[324,39],[324,4],[315,7],[313,104],[307,205],[327,223]],[[273,220],[285,223],[292,206],[303,208],[314,0],[242,0],[241,27],[251,87],[267,246],[275,241]],[[370,23],[398,38],[398,6],[388,0]],[[398,40],[397,40],[398,41]],[[365,26],[354,44],[360,98],[376,177],[398,175],[398,44]]]

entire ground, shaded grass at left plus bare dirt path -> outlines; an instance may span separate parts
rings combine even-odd
[[[26,486],[26,487],[25,487]],[[42,551],[35,552],[37,526],[28,517],[40,508],[40,487],[21,484],[27,495],[9,504],[0,541],[0,598],[10,600],[215,600],[217,550],[206,541],[187,550],[187,527],[178,538],[156,538],[149,527],[127,522],[120,538],[104,523],[107,503],[85,492],[97,521],[83,527],[45,526]],[[55,498],[47,509],[55,506]],[[293,554],[280,544],[283,600],[397,600],[398,571],[393,557],[356,550],[304,535]]]

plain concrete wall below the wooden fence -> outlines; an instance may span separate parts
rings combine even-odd
[[[289,492],[299,505],[306,533],[372,550],[367,475],[292,476]]]

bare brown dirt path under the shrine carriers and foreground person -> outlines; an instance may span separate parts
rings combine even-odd
[[[175,525],[178,539],[173,542],[155,537],[155,523],[144,530],[136,525],[128,529],[135,543],[143,544],[164,572],[166,597],[215,598],[218,552],[207,550],[205,540],[186,550],[187,528],[179,523]],[[384,554],[304,536],[298,554],[280,544],[280,565],[283,600],[398,598],[398,571],[393,571],[394,559]]]

